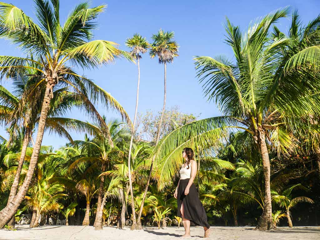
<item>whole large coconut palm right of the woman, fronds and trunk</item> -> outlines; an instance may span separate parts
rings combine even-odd
[[[259,229],[273,228],[267,142],[279,153],[289,154],[296,146],[294,130],[303,124],[300,116],[315,114],[320,109],[319,94],[310,94],[305,87],[310,84],[310,88],[317,89],[319,78],[306,79],[312,69],[303,66],[287,71],[299,54],[286,51],[290,39],[274,39],[269,32],[271,25],[288,12],[289,9],[284,8],[268,14],[253,24],[245,36],[227,20],[226,41],[234,51],[235,62],[224,56],[195,58],[197,76],[204,83],[205,94],[218,103],[225,116],[177,128],[155,148],[156,158],[169,162],[174,166],[172,172],[176,172],[184,147],[190,146],[196,151],[218,149],[231,129],[244,130],[243,138],[255,144],[262,158],[264,208],[258,221]]]

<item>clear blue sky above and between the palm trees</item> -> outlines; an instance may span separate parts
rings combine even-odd
[[[68,12],[81,1],[60,1],[60,21],[64,22]],[[31,0],[11,0],[11,4],[21,8],[35,19],[34,3]],[[138,32],[151,41],[150,37],[160,28],[174,31],[175,40],[180,45],[180,56],[167,67],[167,108],[178,105],[184,113],[200,115],[200,118],[219,116],[216,105],[203,97],[201,85],[196,79],[193,56],[215,56],[225,54],[232,58],[232,51],[224,43],[224,23],[226,16],[235,25],[245,30],[251,20],[264,16],[277,8],[290,5],[297,8],[304,23],[320,13],[320,1],[91,1],[92,6],[107,4],[108,7],[98,19],[100,28],[95,39],[114,41],[120,48],[126,38]],[[290,18],[279,21],[278,27],[286,31]],[[10,42],[0,39],[1,55],[20,56],[21,52]],[[145,54],[140,63],[139,112],[148,109],[159,111],[163,104],[163,65]],[[133,119],[137,82],[137,66],[126,60],[95,70],[79,70],[80,74],[95,80],[118,100]],[[10,89],[10,82],[2,82]],[[98,106],[100,114],[108,118],[117,115]],[[89,120],[78,111],[67,117]],[[0,126],[0,135],[7,136]],[[83,139],[83,134],[71,133],[74,139]],[[36,135],[34,136],[34,138]],[[43,145],[59,148],[67,142],[58,136],[44,135]]]

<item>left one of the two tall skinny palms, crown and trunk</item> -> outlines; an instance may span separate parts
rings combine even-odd
[[[129,186],[130,186],[131,202],[132,202],[132,220],[133,220],[132,225],[136,226],[136,213],[135,213],[135,207],[134,207],[134,201],[133,201],[134,196],[133,196],[133,190],[132,190],[131,167],[130,167],[131,148],[132,148],[133,136],[135,132],[135,124],[136,124],[138,102],[139,102],[140,59],[141,59],[140,53],[143,54],[147,52],[147,49],[149,48],[149,43],[145,37],[142,37],[140,34],[135,33],[132,38],[128,38],[126,40],[125,45],[129,48],[132,48],[131,55],[134,59],[138,61],[138,85],[137,85],[136,109],[134,112],[133,128],[132,128],[132,134],[131,134],[131,140],[130,140],[130,146],[129,146],[129,156],[128,156],[128,176],[129,176]]]

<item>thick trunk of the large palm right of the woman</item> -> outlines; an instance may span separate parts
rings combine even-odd
[[[262,215],[258,221],[257,228],[259,230],[270,230],[273,228],[272,221],[272,207],[271,207],[271,193],[270,193],[270,161],[268,155],[268,148],[265,140],[264,131],[258,130],[258,143],[260,146],[260,153],[263,165],[263,179],[264,179],[264,207]]]

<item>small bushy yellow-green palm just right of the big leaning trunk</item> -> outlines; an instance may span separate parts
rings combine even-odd
[[[33,228],[38,226],[38,220],[43,212],[59,211],[58,201],[66,194],[61,193],[64,190],[63,185],[51,182],[48,177],[38,179],[38,182],[31,188],[31,195],[25,196],[26,204],[30,209],[36,209],[36,218]]]

